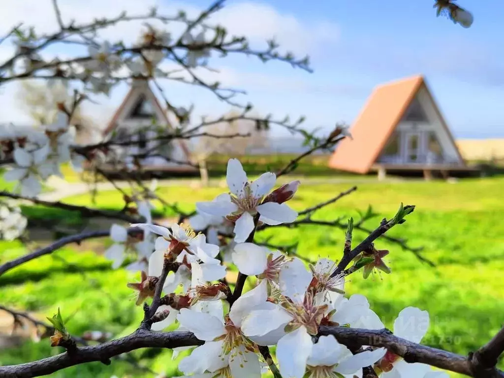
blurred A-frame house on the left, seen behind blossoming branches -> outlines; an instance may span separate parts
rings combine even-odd
[[[124,146],[124,156],[149,155],[140,158],[143,171],[194,172],[196,169],[184,162],[190,161],[190,151],[182,139],[173,141],[152,140],[162,133],[172,131],[166,111],[163,110],[147,79],[136,78],[124,100],[114,113],[103,136],[114,140],[132,140],[139,143]]]

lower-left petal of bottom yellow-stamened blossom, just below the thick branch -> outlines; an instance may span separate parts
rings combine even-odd
[[[227,366],[227,358],[221,358],[222,341],[206,342],[183,358],[178,369],[184,374],[203,373],[206,370],[215,371]],[[212,376],[212,375],[210,375]]]

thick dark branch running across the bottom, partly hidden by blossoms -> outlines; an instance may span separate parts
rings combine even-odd
[[[319,329],[320,335],[333,335],[338,342],[346,346],[384,347],[392,353],[404,358],[406,362],[420,362],[441,369],[458,372],[476,378],[504,378],[504,372],[494,366],[485,370],[486,375],[475,372],[476,363],[472,357],[464,357],[444,350],[415,344],[394,336],[389,330],[364,330],[346,327],[327,327]],[[499,333],[490,345],[501,345]],[[497,340],[497,341],[494,341]],[[72,355],[61,353],[57,356],[19,365],[0,366],[0,376],[5,378],[28,378],[51,374],[55,371],[87,362],[108,361],[122,353],[128,353],[140,348],[176,348],[182,346],[198,346],[203,341],[198,340],[191,332],[151,332],[143,328],[133,334],[105,342],[103,344],[77,348]],[[487,346],[481,348],[485,349]],[[494,346],[491,350],[496,351]]]

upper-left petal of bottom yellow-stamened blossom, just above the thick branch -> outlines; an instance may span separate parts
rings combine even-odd
[[[226,333],[222,321],[205,312],[182,308],[177,315],[177,320],[181,326],[191,330],[200,340],[213,341]]]

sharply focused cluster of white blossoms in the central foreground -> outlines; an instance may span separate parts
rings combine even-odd
[[[205,342],[180,361],[184,376],[259,378],[267,369],[260,347],[276,346],[280,374],[289,378],[361,377],[366,366],[373,366],[384,378],[447,377],[428,365],[406,363],[385,348],[368,347],[353,354],[334,336],[319,336],[320,326],[375,330],[384,325],[364,296],[344,296],[345,276],[337,273],[331,259],[322,258],[307,268],[296,257],[254,244],[250,235],[258,224],[277,225],[297,217],[285,202],[299,182],[271,192],[275,181],[273,173],[266,173],[249,182],[239,161],[229,160],[231,193],[197,203],[199,214],[191,219],[199,229],[213,229],[208,237],[188,225],[174,224],[170,229],[150,222],[131,225],[159,235],[142,281],[128,284],[138,291],[138,305],[154,296],[163,269],[169,271],[152,330],[175,324]],[[255,282],[238,298],[222,280],[226,266],[222,254],[221,259],[217,257],[223,244],[212,243],[219,240],[220,232],[234,233],[226,245],[228,259],[240,275],[251,276]],[[420,342],[428,323],[426,311],[407,307],[394,322],[394,332]],[[190,347],[174,352],[183,349]]]

